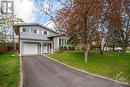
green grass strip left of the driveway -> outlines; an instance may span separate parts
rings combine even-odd
[[[19,72],[19,56],[16,52],[0,54],[0,87],[18,87]]]

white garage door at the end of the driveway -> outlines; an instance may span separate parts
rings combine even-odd
[[[23,54],[24,55],[38,54],[38,44],[24,43]]]

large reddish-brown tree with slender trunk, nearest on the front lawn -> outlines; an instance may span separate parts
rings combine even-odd
[[[60,32],[75,37],[76,41],[80,40],[84,44],[83,51],[85,62],[87,62],[92,40],[98,31],[99,25],[103,22],[100,20],[103,0],[58,1],[64,6],[62,9],[55,11],[54,16],[45,10],[44,12],[53,19]]]

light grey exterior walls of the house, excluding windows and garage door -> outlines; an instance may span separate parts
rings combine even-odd
[[[23,32],[23,28],[29,29],[28,32]],[[37,33],[33,33],[32,30],[37,30]],[[44,31],[47,31],[47,35],[44,34]],[[59,50],[59,39],[66,39],[66,43],[68,40],[67,36],[56,36],[57,33],[44,29],[40,26],[21,26],[20,27],[20,55],[23,55],[24,51],[24,43],[37,43],[38,44],[38,54],[44,53],[44,44],[48,46],[49,53],[53,53],[53,51]],[[53,41],[49,38],[50,36],[54,36]],[[64,44],[63,46],[65,46]]]

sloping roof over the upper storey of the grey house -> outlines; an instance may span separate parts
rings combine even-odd
[[[44,25],[38,24],[38,23],[20,23],[20,24],[14,24],[12,26],[13,26],[13,29],[15,30],[16,34],[18,34],[18,32],[19,32],[19,27],[20,26],[40,26],[40,27],[42,27],[44,29],[47,29],[47,30],[52,31],[52,32],[54,32],[56,34],[59,34],[58,32],[56,32],[56,31],[54,31],[54,30],[52,30],[52,29],[50,29],[50,28],[48,28],[48,27],[46,27]]]

